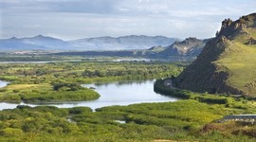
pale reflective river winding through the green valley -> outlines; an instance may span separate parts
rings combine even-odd
[[[0,81],[2,87],[8,82]],[[17,105],[51,105],[58,108],[71,108],[78,106],[87,106],[95,110],[104,106],[112,105],[129,105],[144,102],[166,102],[176,101],[177,98],[166,97],[154,92],[154,80],[145,81],[118,81],[108,83],[93,83],[84,84],[85,87],[93,87],[101,95],[101,98],[91,101],[75,101],[75,102],[61,102],[61,103],[42,103],[42,104],[12,104],[2,102],[0,103],[0,110],[13,109]]]

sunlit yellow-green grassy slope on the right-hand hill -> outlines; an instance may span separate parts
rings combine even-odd
[[[228,83],[231,86],[242,90],[247,95],[256,96],[255,88],[245,87],[256,81],[256,45],[245,44],[251,37],[256,39],[256,29],[249,28],[248,30],[251,34],[242,34],[231,41],[229,48],[215,63],[222,69],[228,69],[231,75]]]

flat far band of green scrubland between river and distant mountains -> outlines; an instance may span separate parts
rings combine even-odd
[[[39,84],[166,78],[183,67],[168,62],[49,62],[0,64],[0,69],[1,80]]]

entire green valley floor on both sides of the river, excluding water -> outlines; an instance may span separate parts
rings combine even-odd
[[[77,83],[175,77],[183,66],[166,62],[49,62],[0,64],[0,68],[0,79],[11,82],[0,89],[2,101],[44,101],[49,97],[61,102],[81,97],[66,94],[81,91]],[[156,80],[155,92],[185,99],[103,107],[95,112],[88,107],[23,105],[0,111],[0,141],[256,140],[255,125],[216,122],[225,115],[255,114],[254,101],[174,90],[164,81]],[[137,92],[131,89],[131,93]]]

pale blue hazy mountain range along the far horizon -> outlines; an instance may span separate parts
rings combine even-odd
[[[61,39],[38,35],[30,38],[10,38],[0,40],[1,51],[88,51],[88,50],[130,50],[147,49],[154,45],[167,46],[178,39],[164,36],[130,35],[118,38],[99,37],[64,41]]]

